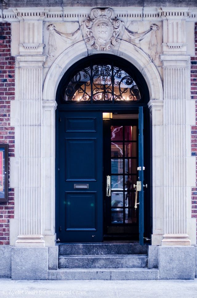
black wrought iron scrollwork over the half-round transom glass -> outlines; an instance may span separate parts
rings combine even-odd
[[[64,101],[139,101],[142,94],[131,74],[113,64],[78,69],[62,90]]]

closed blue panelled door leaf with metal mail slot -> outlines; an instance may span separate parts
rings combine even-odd
[[[59,112],[60,242],[103,240],[101,112]]]

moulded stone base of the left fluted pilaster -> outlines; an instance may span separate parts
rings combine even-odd
[[[45,246],[42,235],[18,235],[16,246]]]

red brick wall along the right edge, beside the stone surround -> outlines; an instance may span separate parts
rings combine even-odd
[[[195,56],[191,57],[191,98],[196,102],[196,123],[195,126],[191,126],[191,155],[197,156],[197,23],[195,23]],[[192,188],[191,200],[191,216],[197,218],[197,157],[196,187]]]

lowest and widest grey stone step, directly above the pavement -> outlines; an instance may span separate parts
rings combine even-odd
[[[100,268],[58,269],[48,271],[49,280],[148,280],[159,279],[158,269]]]

